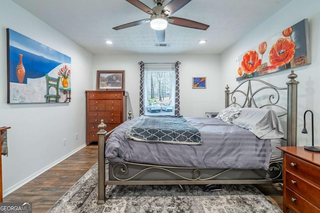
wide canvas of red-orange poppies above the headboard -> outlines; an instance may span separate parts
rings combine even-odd
[[[237,81],[309,64],[308,19],[281,30],[271,39],[261,40],[239,56]]]

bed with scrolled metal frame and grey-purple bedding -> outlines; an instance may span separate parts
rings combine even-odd
[[[97,204],[104,204],[106,201],[106,185],[207,185],[281,182],[281,153],[272,155],[277,150],[275,146],[280,146],[280,143],[279,139],[274,138],[284,139],[285,142],[283,143],[282,141],[282,144],[285,146],[296,146],[297,84],[299,83],[295,80],[296,77],[297,75],[292,70],[288,75],[289,81],[286,82],[286,87],[276,87],[259,79],[247,79],[241,82],[233,91],[230,91],[229,87],[226,86],[225,110],[229,113],[230,108],[233,110],[233,108],[239,107],[243,112],[236,113],[237,118],[231,123],[225,122],[223,118],[220,118],[222,121],[215,118],[183,118],[187,121],[186,125],[191,124],[191,126],[195,126],[200,131],[201,139],[196,139],[197,144],[176,144],[168,142],[169,140],[166,141],[168,143],[154,143],[135,141],[136,138],[135,140],[130,139],[129,136],[131,137],[131,135],[128,134],[128,129],[140,122],[143,118],[142,116],[131,119],[129,114],[126,122],[109,132],[104,131],[105,124],[101,120],[101,124],[98,125],[100,130],[97,133]],[[264,91],[263,95],[259,96],[258,94],[262,94],[261,91]],[[265,95],[266,91],[269,91],[270,94]],[[283,98],[280,98],[280,95],[283,94],[286,95],[284,106],[281,105]],[[241,123],[244,112],[251,115],[252,110],[254,112],[259,111],[258,113],[261,111],[250,108],[266,109],[262,111],[267,111],[267,113],[270,111],[275,112],[276,110],[273,108],[279,109],[272,116],[274,120],[278,120],[278,117],[286,117],[284,119],[285,125],[282,125],[282,127],[286,126],[286,128],[283,128],[285,130],[283,135],[286,137],[282,137],[281,133],[277,134],[277,131],[275,133],[276,136],[273,136],[272,133],[272,136],[264,139],[262,135],[265,133],[261,134],[259,130],[253,131],[255,127],[248,128],[247,123]],[[222,112],[223,110],[220,116],[223,115]],[[274,115],[276,118],[274,118]],[[269,114],[263,114],[263,116],[272,117]],[[251,116],[251,118],[255,117]],[[180,119],[180,116],[173,119]],[[235,121],[237,121],[237,125],[234,124],[236,123]],[[273,122],[273,124],[277,125],[276,122]],[[207,138],[207,133],[204,133],[204,130],[208,129],[215,129],[214,134],[219,134],[220,142],[215,142],[218,140],[214,139],[214,143],[220,143],[221,145],[219,150],[212,150],[208,145],[208,140],[210,139]],[[213,134],[210,130],[208,134]],[[252,134],[253,132],[254,134]],[[125,138],[125,134],[129,136],[127,135],[127,138]],[[260,134],[258,135],[259,138],[255,134]],[[241,135],[246,138],[245,143],[237,141],[237,138],[242,137]],[[105,141],[107,136],[108,139]],[[231,140],[229,140],[230,138]],[[254,142],[256,139],[258,143]],[[118,141],[123,141],[123,144],[119,144],[122,142]],[[225,150],[226,147],[231,146],[227,144],[227,141],[232,141],[234,144],[231,151]],[[255,143],[255,145],[251,145],[251,142]],[[240,144],[241,146],[242,144],[248,145],[242,147],[242,150],[237,150]],[[251,148],[252,146],[255,146],[254,149]],[[155,152],[152,152],[153,149]],[[191,149],[191,152],[188,149]],[[134,150],[140,152],[134,154]],[[159,150],[161,150],[161,154],[157,153]],[[252,150],[258,150],[258,152],[255,153]],[[192,158],[197,152],[201,153],[200,156],[202,155],[202,158]],[[227,152],[229,155],[225,155]],[[167,154],[163,155],[164,153]],[[156,161],[152,160],[152,156]],[[240,158],[242,158],[241,161],[239,160]],[[230,165],[226,163],[225,159],[231,159],[231,162],[233,160],[234,163]],[[105,166],[108,167],[107,180],[105,179]]]

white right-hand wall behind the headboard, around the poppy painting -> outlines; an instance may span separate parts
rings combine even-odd
[[[307,114],[307,135],[301,134],[303,127],[303,113],[305,110],[312,110],[314,113],[314,144],[320,146],[320,110],[318,109],[320,100],[320,87],[316,83],[320,71],[320,1],[319,0],[292,0],[285,7],[280,9],[273,16],[265,20],[251,32],[231,46],[221,55],[222,82],[228,83],[234,88],[238,82],[237,77],[238,62],[236,59],[240,54],[247,51],[260,42],[273,37],[279,31],[308,18],[309,38],[311,47],[311,64],[294,68],[298,75],[298,121],[297,121],[297,145],[311,145],[311,116]],[[279,71],[272,74],[260,76],[265,81],[272,82],[276,86],[286,86],[287,75],[291,69]]]

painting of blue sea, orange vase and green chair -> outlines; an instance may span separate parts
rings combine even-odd
[[[12,29],[7,29],[7,59],[7,103],[69,102],[71,100],[71,58],[69,56]],[[58,89],[48,87],[46,74],[53,79],[59,79]],[[56,97],[48,101],[48,94]]]

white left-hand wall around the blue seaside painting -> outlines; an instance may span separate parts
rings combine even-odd
[[[6,28],[71,57],[70,103],[6,103]],[[84,146],[84,91],[91,87],[91,53],[12,1],[0,2],[0,126],[11,127],[8,157],[2,156],[4,196]]]

